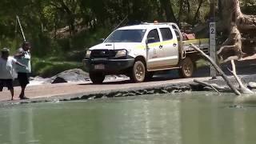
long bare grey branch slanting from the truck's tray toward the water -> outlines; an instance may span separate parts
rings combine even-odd
[[[222,69],[214,62],[213,59],[211,59],[207,54],[205,54],[202,50],[200,50],[197,46],[194,46],[194,44],[190,43],[190,46],[194,48],[194,50],[197,50],[202,56],[204,56],[215,68],[215,70],[218,71],[218,74],[222,76],[222,78],[226,81],[226,84],[230,87],[230,89],[234,92],[234,94],[241,95],[241,93],[234,87],[234,85],[230,82],[230,80],[227,78],[226,74],[222,71]]]

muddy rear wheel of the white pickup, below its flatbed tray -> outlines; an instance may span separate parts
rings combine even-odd
[[[181,78],[190,78],[194,72],[194,63],[191,58],[186,57],[181,63],[181,69],[178,70],[179,76]]]

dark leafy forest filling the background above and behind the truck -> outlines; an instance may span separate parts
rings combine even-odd
[[[255,14],[255,0],[241,2],[245,13]],[[46,58],[85,50],[127,23],[158,20],[195,26],[206,22],[209,12],[209,0],[2,0],[0,46],[14,53],[22,43],[16,15],[32,43],[33,55]]]

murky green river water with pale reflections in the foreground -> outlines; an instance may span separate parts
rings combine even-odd
[[[0,109],[1,144],[250,144],[256,104],[228,94],[158,94]]]

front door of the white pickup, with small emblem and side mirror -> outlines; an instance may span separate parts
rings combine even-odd
[[[150,30],[146,37],[147,42],[147,69],[156,70],[163,65],[164,57],[160,37],[157,29]]]

